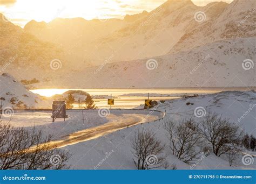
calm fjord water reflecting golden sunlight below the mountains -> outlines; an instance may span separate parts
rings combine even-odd
[[[180,98],[184,94],[193,95],[204,95],[219,93],[221,91],[247,91],[256,89],[256,87],[203,87],[203,88],[149,88],[149,89],[34,89],[30,90],[33,93],[42,96],[53,96],[56,94],[63,94],[68,90],[83,90],[90,95],[107,95],[115,98],[114,105],[112,108],[124,108],[131,109],[144,104],[144,100],[147,99],[148,93],[150,94],[151,100],[170,100],[174,98]],[[109,108],[107,105],[107,97],[101,99],[95,99],[95,103],[98,108]],[[78,108],[78,104],[74,105]]]

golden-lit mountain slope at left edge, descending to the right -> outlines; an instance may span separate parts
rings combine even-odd
[[[0,14],[0,17],[3,17]],[[52,43],[46,43],[26,33],[21,27],[0,19],[0,65],[1,72],[22,67],[22,72],[32,66],[50,68],[50,61],[60,58],[61,50]]]

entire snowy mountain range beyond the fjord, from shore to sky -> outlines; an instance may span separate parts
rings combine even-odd
[[[0,63],[18,54],[2,72],[36,77],[34,87],[256,86],[255,67],[242,68],[256,62],[255,15],[254,0],[169,0],[123,20],[32,20],[24,29],[0,20]]]

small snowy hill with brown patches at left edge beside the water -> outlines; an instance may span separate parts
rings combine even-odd
[[[4,73],[0,76],[0,89],[3,108],[50,108],[48,100],[33,94],[9,74]]]

